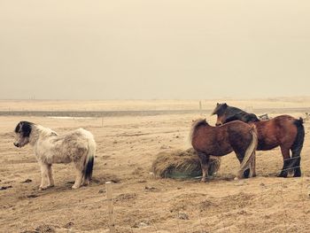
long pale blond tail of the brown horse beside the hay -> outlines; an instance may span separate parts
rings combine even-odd
[[[244,170],[248,167],[252,167],[252,171],[250,171],[250,177],[255,174],[255,165],[252,165],[252,162],[255,163],[255,151],[258,144],[258,136],[256,132],[256,127],[252,125],[251,129],[251,135],[252,135],[252,142],[249,144],[248,148],[246,149],[244,153],[244,159],[242,160],[242,163],[240,165],[240,172],[243,174]],[[251,166],[252,165],[252,166]]]

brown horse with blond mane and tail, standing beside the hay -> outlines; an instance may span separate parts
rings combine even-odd
[[[205,120],[196,120],[191,128],[190,139],[198,152],[203,172],[202,182],[205,182],[210,155],[224,156],[231,151],[235,151],[240,162],[237,178],[242,178],[244,169],[249,167],[250,177],[255,175],[255,151],[258,143],[255,127],[240,120],[221,127],[212,127]]]

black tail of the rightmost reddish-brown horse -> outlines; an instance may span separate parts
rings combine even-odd
[[[295,171],[298,170],[298,174],[294,174],[294,176],[300,176],[300,152],[304,145],[305,140],[305,128],[304,128],[304,120],[299,118],[299,120],[294,121],[294,125],[297,127],[297,135],[295,137],[295,141],[291,146],[291,164],[288,168],[295,168]]]

